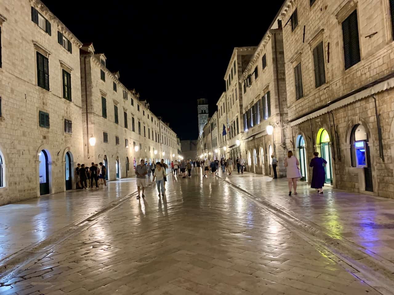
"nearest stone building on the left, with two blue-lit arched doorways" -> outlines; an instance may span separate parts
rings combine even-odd
[[[74,187],[82,162],[79,48],[39,0],[0,2],[0,205]]]

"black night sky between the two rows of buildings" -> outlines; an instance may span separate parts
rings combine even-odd
[[[43,0],[181,139],[198,137],[197,99],[207,98],[215,112],[234,47],[258,45],[282,5],[264,2]]]

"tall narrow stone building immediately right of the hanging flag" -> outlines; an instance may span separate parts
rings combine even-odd
[[[235,159],[242,155],[246,157],[243,141],[243,91],[240,79],[249,61],[256,51],[256,47],[234,48],[229,65],[224,76],[226,92],[224,101],[217,106],[218,116],[225,116],[226,135],[220,133],[219,144],[226,157]],[[223,97],[221,97],[223,99]],[[223,126],[221,126],[223,128]]]

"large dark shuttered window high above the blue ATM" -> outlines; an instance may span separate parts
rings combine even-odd
[[[348,18],[342,22],[342,34],[344,41],[345,70],[347,70],[361,60],[357,10],[353,11]]]

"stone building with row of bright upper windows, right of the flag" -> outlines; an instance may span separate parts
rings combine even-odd
[[[285,78],[281,22],[275,19],[239,80],[248,171],[273,176],[271,155],[274,155],[278,161],[278,177],[286,176]],[[267,134],[268,126],[272,134]]]

